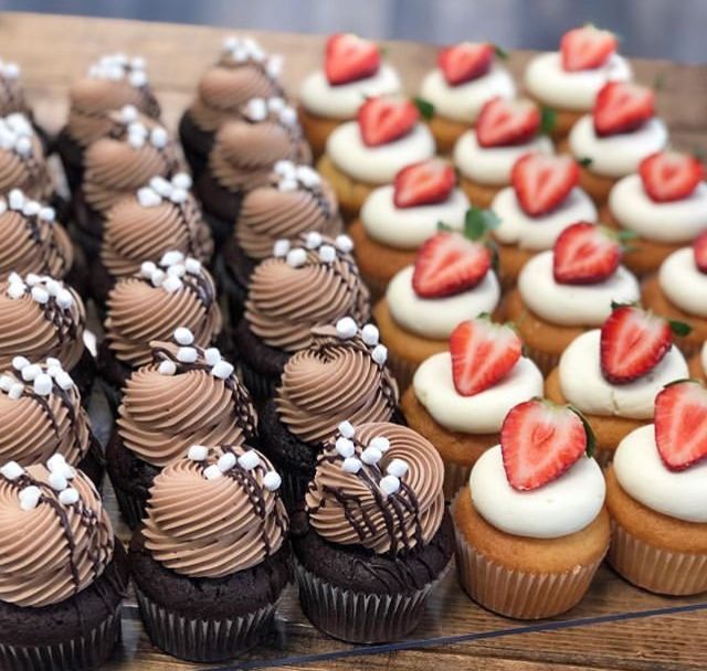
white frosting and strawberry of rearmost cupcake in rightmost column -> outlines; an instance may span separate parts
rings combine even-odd
[[[525,73],[530,95],[558,109],[588,111],[606,82],[632,78],[631,65],[618,50],[616,36],[593,25],[564,33],[559,52],[535,56]]]

